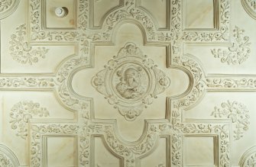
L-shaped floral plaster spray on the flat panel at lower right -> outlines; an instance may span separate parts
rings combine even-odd
[[[244,104],[238,103],[237,101],[227,101],[221,104],[221,108],[215,107],[212,111],[214,117],[228,117],[232,119],[234,124],[234,139],[239,140],[245,130],[248,130],[249,122],[249,111]]]

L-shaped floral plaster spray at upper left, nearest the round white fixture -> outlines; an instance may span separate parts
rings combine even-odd
[[[45,47],[34,48],[28,46],[25,37],[27,28],[25,24],[16,28],[16,34],[11,35],[10,48],[12,59],[21,64],[37,63],[40,58],[45,58],[48,49]]]

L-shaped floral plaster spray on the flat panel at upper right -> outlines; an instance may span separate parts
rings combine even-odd
[[[235,27],[234,38],[235,42],[232,43],[232,47],[228,47],[228,50],[213,49],[212,54],[215,58],[221,59],[222,63],[229,64],[241,64],[248,59],[249,53],[251,53],[249,37],[243,37],[245,31],[238,27]]]

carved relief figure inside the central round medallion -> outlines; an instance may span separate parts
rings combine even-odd
[[[141,85],[142,69],[138,66],[130,66],[118,71],[121,82],[116,85],[116,90],[122,98],[134,99],[140,97],[146,91]]]

